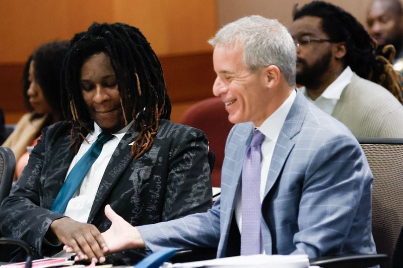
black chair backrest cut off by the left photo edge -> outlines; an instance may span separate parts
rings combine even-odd
[[[16,158],[13,151],[0,146],[0,204],[10,194],[15,168]]]

